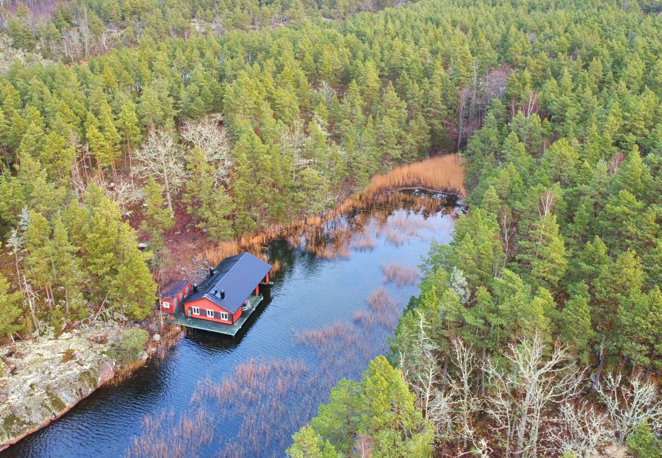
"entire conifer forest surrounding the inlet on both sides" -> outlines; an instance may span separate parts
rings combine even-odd
[[[229,240],[459,150],[453,242],[290,455],[660,456],[658,2],[48,5],[3,23],[3,337],[147,316],[175,212]]]

